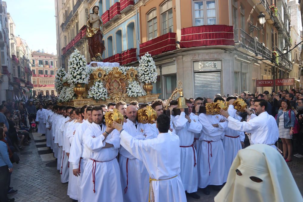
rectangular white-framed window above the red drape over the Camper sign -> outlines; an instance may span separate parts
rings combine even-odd
[[[193,1],[193,5],[194,26],[216,24],[215,0],[197,0]]]

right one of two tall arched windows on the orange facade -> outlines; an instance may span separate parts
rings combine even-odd
[[[162,35],[173,31],[172,1],[167,1],[160,7]]]

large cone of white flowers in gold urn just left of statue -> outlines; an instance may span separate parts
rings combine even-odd
[[[68,59],[67,69],[67,81],[68,83],[83,83],[88,84],[89,71],[86,66],[86,60],[84,55],[80,54],[80,51],[76,49]]]

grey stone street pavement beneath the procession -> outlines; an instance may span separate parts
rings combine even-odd
[[[11,187],[17,189],[18,192],[9,197],[21,202],[72,201],[67,196],[68,183],[62,184],[60,181],[60,174],[56,169],[56,161],[45,161],[45,157],[43,157],[45,154],[42,154],[42,157],[40,157],[38,153],[38,148],[41,147],[38,146],[37,148],[36,144],[42,144],[45,136],[41,137],[39,134],[34,134],[34,136],[31,135],[31,137],[32,143],[26,146],[23,151],[18,152],[20,157],[19,164],[13,164],[14,170],[11,177]],[[37,143],[35,143],[33,137],[38,141]],[[45,150],[39,151],[48,151],[48,147],[46,147]],[[44,161],[42,161],[42,159],[44,159]],[[303,159],[293,157],[293,161],[289,162],[288,165],[298,184],[300,192],[303,193]],[[188,202],[213,202],[218,191],[211,188],[210,191],[211,194],[206,196],[201,190],[198,190],[201,198],[198,200],[188,198]]]

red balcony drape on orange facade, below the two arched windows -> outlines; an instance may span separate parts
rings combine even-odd
[[[140,44],[140,57],[147,52],[151,55],[158,55],[176,49],[176,33],[168,32]]]

